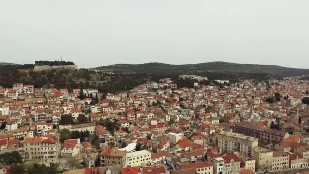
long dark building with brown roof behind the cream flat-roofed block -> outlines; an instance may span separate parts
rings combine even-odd
[[[247,136],[259,138],[259,141],[265,143],[283,142],[286,138],[289,137],[289,133],[284,131],[263,128],[257,125],[243,122],[236,123],[235,131]]]

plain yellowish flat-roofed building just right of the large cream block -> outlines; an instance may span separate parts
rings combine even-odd
[[[272,169],[273,152],[269,149],[257,146],[253,148],[253,159],[255,159],[255,168]]]

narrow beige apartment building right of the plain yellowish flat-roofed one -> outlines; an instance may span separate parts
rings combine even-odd
[[[289,168],[289,154],[284,151],[273,151],[272,170]]]

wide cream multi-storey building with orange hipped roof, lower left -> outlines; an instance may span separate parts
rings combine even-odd
[[[25,138],[23,142],[24,160],[46,165],[51,162],[56,163],[59,145],[59,140],[50,135]]]

